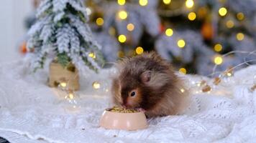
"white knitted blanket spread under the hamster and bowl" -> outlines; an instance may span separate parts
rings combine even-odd
[[[148,119],[139,131],[108,130],[99,119],[109,102],[113,70],[81,78],[78,109],[70,109],[55,89],[47,87],[47,69],[30,74],[24,61],[0,66],[0,136],[15,143],[45,142],[256,142],[256,66],[237,71],[210,93],[191,94],[191,105],[183,115]],[[191,81],[213,79],[196,75]],[[91,83],[99,81],[101,89]],[[194,93],[194,92],[193,92]]]

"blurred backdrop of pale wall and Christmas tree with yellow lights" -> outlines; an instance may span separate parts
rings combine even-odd
[[[0,62],[27,53],[39,0],[1,0]],[[255,64],[256,0],[85,0],[106,62],[157,51],[183,74]]]

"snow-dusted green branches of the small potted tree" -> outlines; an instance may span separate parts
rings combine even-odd
[[[87,21],[81,0],[43,0],[37,9],[37,21],[28,33],[32,67],[42,68],[51,56],[63,66],[71,62],[78,69],[98,71],[104,60]]]

